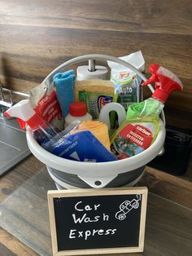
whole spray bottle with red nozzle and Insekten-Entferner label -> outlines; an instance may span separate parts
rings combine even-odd
[[[129,106],[126,121],[111,138],[111,148],[120,159],[132,157],[150,147],[158,135],[159,114],[169,93],[183,89],[180,79],[168,69],[151,64],[150,71],[152,76],[142,86],[155,82],[153,95]]]

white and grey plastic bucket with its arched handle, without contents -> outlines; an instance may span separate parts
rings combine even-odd
[[[146,81],[146,77],[144,77],[143,74],[132,65],[109,55],[83,55],[72,60],[68,60],[66,63],[60,65],[50,73],[46,79],[51,79],[55,73],[61,72],[64,68],[68,68],[72,64],[76,64],[84,60],[111,60],[113,62],[123,64],[124,66],[133,69],[138,76],[142,77],[142,80]],[[46,82],[46,79],[44,82]],[[154,91],[151,85],[149,87],[151,91]],[[138,155],[120,161],[90,163],[71,161],[57,157],[50,152],[47,152],[44,148],[41,148],[33,138],[32,131],[29,127],[27,128],[26,133],[28,148],[39,161],[46,164],[50,177],[55,180],[56,186],[59,189],[113,188],[124,185],[133,186],[142,178],[146,164],[154,159],[164,148],[164,113],[161,114],[161,117],[163,121],[159,119],[159,134],[157,135],[155,142]]]

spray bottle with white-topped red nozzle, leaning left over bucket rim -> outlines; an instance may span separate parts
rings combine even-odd
[[[50,140],[59,134],[59,129],[43,120],[32,108],[28,99],[21,100],[19,103],[9,108],[5,115],[16,117],[20,127],[24,130],[28,125],[33,131],[33,137],[46,150],[50,151]]]

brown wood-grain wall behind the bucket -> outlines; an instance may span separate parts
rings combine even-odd
[[[26,92],[77,55],[142,50],[146,75],[156,62],[180,77],[184,90],[172,93],[165,114],[190,128],[191,13],[190,0],[0,1],[0,78]]]

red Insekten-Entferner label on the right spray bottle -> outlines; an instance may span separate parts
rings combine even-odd
[[[124,128],[120,130],[120,135],[143,149],[149,148],[153,139],[151,130],[141,125],[133,126],[129,124],[124,126]]]

